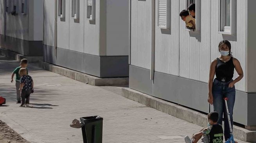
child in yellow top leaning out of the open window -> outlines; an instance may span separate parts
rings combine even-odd
[[[185,21],[186,28],[195,30],[195,19],[189,15],[188,10],[182,10],[181,13],[179,13],[179,16],[183,21]]]

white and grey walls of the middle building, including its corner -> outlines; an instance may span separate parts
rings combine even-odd
[[[72,0],[63,0],[63,17],[57,13],[59,0],[45,0],[45,14],[50,14],[45,16],[45,38],[53,37],[45,42],[45,61],[97,77],[129,76],[128,1],[95,0],[93,19],[87,16],[87,1],[76,1],[79,17],[75,19]]]

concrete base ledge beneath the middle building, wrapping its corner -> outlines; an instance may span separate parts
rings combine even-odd
[[[58,73],[65,77],[72,78],[74,80],[78,80],[80,82],[84,82],[86,84],[94,85],[94,86],[120,86],[120,85],[128,85],[129,78],[121,77],[121,78],[98,78],[92,75],[88,75],[85,73],[77,72],[74,70],[70,70],[67,68],[63,68],[61,66],[52,65],[46,62],[40,62],[39,67],[49,70],[54,73]]]

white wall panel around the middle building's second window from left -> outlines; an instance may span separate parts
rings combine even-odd
[[[70,0],[70,47],[69,49],[77,52],[84,52],[84,0],[79,0],[79,19],[73,19],[72,0]]]

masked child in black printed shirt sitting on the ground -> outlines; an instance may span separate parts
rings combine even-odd
[[[186,143],[197,143],[201,137],[204,143],[223,143],[223,129],[218,124],[218,112],[211,112],[208,114],[209,123],[207,128],[202,129],[199,133],[193,134],[192,139],[185,136]]]

